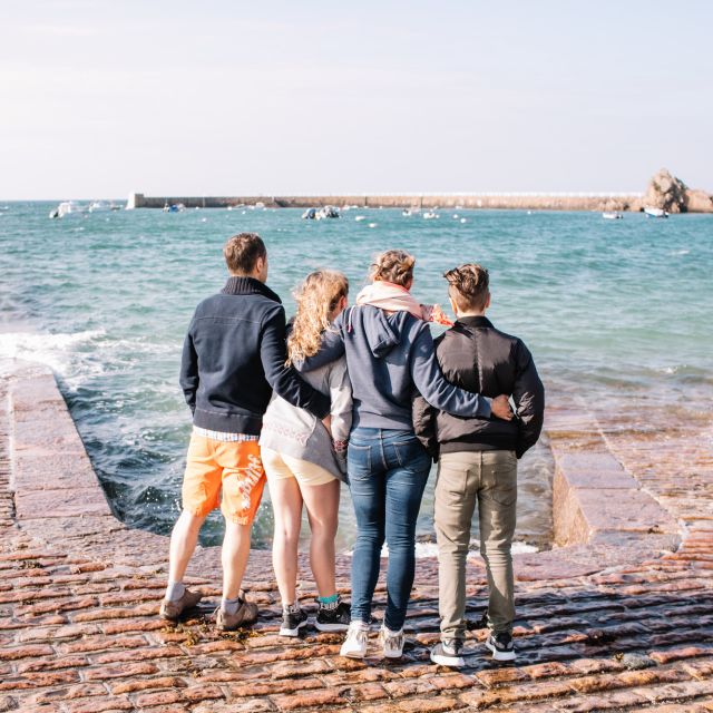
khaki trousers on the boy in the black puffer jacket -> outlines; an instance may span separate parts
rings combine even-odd
[[[466,559],[470,521],[478,506],[480,554],[486,560],[488,625],[512,631],[512,556],[517,458],[511,450],[442,453],[436,481],[441,639],[466,638]]]

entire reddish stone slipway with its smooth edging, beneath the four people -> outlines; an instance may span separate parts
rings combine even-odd
[[[375,643],[364,662],[340,658],[341,637],[313,629],[280,637],[268,553],[247,573],[254,629],[211,626],[215,549],[189,577],[206,604],[166,626],[166,538],[115,519],[50,373],[0,373],[0,711],[713,711],[713,458],[700,424],[652,433],[627,413],[550,409],[560,546],[516,558],[516,665],[482,648],[486,579],[472,563],[468,667],[453,672],[428,657],[432,559],[418,563],[401,661],[378,658]],[[338,563],[344,594],[349,565]],[[309,602],[313,583],[301,587]],[[384,600],[381,580],[377,618]]]

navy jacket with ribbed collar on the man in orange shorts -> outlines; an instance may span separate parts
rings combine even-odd
[[[285,311],[260,280],[231,277],[196,307],[183,346],[180,388],[201,428],[258,436],[273,389],[319,419],[329,397],[285,367]]]

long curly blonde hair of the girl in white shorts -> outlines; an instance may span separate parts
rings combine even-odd
[[[297,313],[287,338],[287,365],[320,351],[322,332],[330,326],[330,315],[339,301],[349,294],[349,280],[336,270],[318,270],[310,273],[293,294]]]

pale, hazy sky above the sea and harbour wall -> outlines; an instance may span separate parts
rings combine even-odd
[[[713,2],[0,0],[0,199],[713,192]]]

